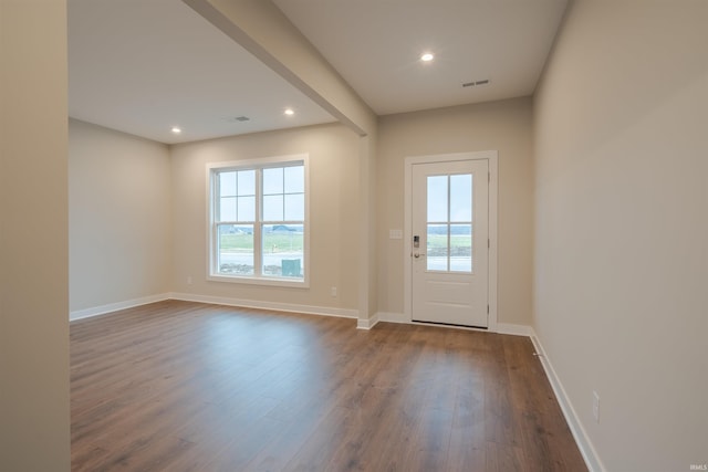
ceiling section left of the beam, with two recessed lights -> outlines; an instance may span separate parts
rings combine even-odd
[[[167,144],[334,122],[180,0],[69,0],[69,115]]]

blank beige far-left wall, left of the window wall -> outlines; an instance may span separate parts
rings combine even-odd
[[[71,119],[69,153],[71,312],[169,292],[169,148]]]

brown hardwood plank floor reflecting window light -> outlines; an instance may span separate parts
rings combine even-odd
[[[532,353],[176,301],[73,322],[72,470],[586,470]]]

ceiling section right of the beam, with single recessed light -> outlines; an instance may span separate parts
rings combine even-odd
[[[378,115],[527,96],[566,0],[274,0]],[[435,54],[430,63],[419,56]],[[489,80],[485,86],[464,83]]]

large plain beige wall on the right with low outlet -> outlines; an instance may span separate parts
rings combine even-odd
[[[707,24],[580,0],[534,102],[534,325],[607,470],[708,463]]]

